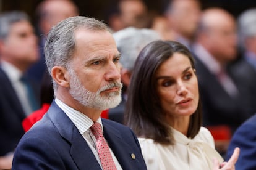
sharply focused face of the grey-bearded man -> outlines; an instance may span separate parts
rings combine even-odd
[[[120,54],[107,31],[75,32],[69,68],[70,94],[85,107],[105,110],[121,101]]]

